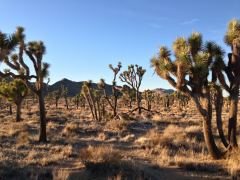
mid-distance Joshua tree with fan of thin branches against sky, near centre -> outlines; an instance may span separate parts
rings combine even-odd
[[[141,114],[142,107],[141,107],[141,93],[140,93],[140,86],[142,84],[143,75],[145,74],[146,70],[142,68],[142,66],[138,65],[130,65],[128,66],[128,70],[124,71],[120,74],[119,78],[122,82],[127,83],[131,88],[134,89],[136,93],[136,100],[137,100],[137,108],[138,113]]]

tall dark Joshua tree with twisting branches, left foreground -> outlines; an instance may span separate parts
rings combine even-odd
[[[14,49],[16,50],[14,51]],[[10,59],[9,56],[15,52],[16,58]],[[42,41],[25,42],[24,28],[22,27],[18,27],[16,32],[10,36],[0,33],[0,61],[4,62],[10,68],[10,70],[5,72],[0,71],[0,76],[21,79],[36,94],[40,111],[40,142],[47,141],[46,110],[43,91],[44,78],[48,76],[49,64],[43,62],[45,52],[46,48]],[[33,72],[32,70],[30,71],[29,62],[33,65]],[[34,83],[32,80],[34,80]]]

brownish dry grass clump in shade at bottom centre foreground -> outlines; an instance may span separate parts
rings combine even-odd
[[[112,146],[89,146],[80,151],[80,159],[88,172],[86,179],[146,179],[143,171],[124,161]]]

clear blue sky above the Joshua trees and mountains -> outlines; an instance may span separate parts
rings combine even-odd
[[[43,40],[50,78],[104,78],[108,64],[147,69],[142,89],[171,86],[150,68],[161,45],[199,31],[221,44],[229,20],[240,18],[239,0],[0,0],[0,30],[26,29],[27,40]]]

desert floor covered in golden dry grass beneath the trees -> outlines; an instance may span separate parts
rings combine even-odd
[[[239,158],[211,160],[201,116],[191,104],[156,106],[159,113],[133,113],[104,122],[92,120],[88,109],[71,105],[67,110],[63,102],[58,109],[50,103],[46,107],[47,144],[37,142],[37,103],[23,106],[18,123],[14,113],[1,109],[1,180],[231,179],[240,166]]]

